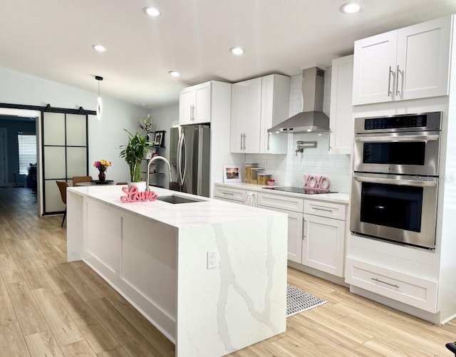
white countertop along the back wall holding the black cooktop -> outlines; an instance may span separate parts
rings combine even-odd
[[[247,191],[255,191],[255,192],[263,192],[263,193],[271,193],[273,195],[282,195],[288,197],[298,197],[305,200],[316,200],[316,201],[325,201],[325,202],[334,202],[334,203],[341,203],[343,205],[348,205],[350,202],[350,195],[348,193],[321,193],[318,195],[306,195],[302,193],[294,193],[294,192],[284,192],[284,191],[276,191],[276,190],[265,190],[263,187],[280,187],[277,186],[262,186],[262,185],[252,185],[250,183],[244,182],[215,182],[214,185],[225,186],[225,187],[232,187],[237,188],[239,190],[247,190]]]

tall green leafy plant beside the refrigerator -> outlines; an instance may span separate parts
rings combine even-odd
[[[141,180],[141,161],[149,150],[147,137],[136,132],[135,135],[124,129],[128,133],[128,144],[120,146],[119,157],[123,157],[130,167],[131,182]]]

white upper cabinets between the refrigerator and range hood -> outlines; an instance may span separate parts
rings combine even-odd
[[[231,152],[286,154],[287,135],[267,130],[288,118],[290,78],[272,74],[232,85]]]

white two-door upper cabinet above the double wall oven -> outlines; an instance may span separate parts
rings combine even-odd
[[[453,16],[355,41],[353,105],[448,94]]]

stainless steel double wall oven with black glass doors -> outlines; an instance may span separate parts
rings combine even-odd
[[[356,118],[353,234],[435,248],[441,112]]]

